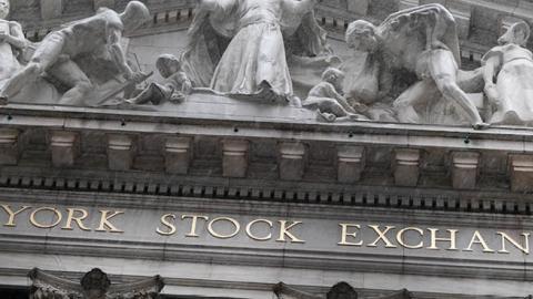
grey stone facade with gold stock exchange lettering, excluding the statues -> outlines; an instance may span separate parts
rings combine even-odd
[[[39,42],[128,2],[16,0],[10,18]],[[143,2],[152,21],[125,43],[149,72],[185,48],[197,1]],[[525,0],[324,0],[315,18],[344,59],[351,21],[426,2],[454,16],[464,69],[533,21]],[[303,114],[201,95],[173,111],[1,106],[0,298],[33,292],[34,267],[130,288],[159,275],[169,299],[332,298],[342,281],[360,298],[531,298],[531,128]]]

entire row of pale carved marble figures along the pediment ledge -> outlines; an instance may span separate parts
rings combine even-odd
[[[199,0],[182,54],[163,54],[154,62],[163,81],[150,82],[133,96],[124,93],[131,99],[121,103],[183,104],[190,94],[209,91],[316,111],[324,122],[533,124],[527,23],[511,25],[482,66],[465,72],[453,16],[441,4],[424,4],[379,25],[350,23],[346,45],[362,59],[341,65],[315,21],[318,2]],[[20,24],[3,20],[8,12],[9,1],[0,0],[0,104],[44,80],[63,92],[53,103],[100,105],[149,76],[131,65],[121,45],[124,31],[150,20],[140,1],[130,1],[123,13],[101,9],[52,31],[22,66],[19,52],[28,42]],[[104,56],[115,66],[108,73],[92,63]],[[102,82],[114,83],[95,92]]]

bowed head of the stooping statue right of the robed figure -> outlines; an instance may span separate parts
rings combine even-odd
[[[348,47],[356,51],[375,52],[379,45],[375,25],[364,20],[351,22],[345,35]]]

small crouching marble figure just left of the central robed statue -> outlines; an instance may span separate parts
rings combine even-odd
[[[155,68],[164,79],[162,83],[150,85],[135,97],[125,100],[130,104],[152,103],[159,105],[163,102],[181,103],[192,92],[192,82],[182,71],[180,60],[171,54],[163,54],[155,61]]]

